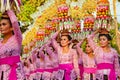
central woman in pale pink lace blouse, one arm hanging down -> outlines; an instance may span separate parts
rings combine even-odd
[[[59,67],[61,70],[64,70],[65,80],[71,80],[71,71],[75,69],[77,73],[77,78],[79,79],[79,68],[78,68],[78,56],[76,50],[72,49],[69,45],[72,40],[71,36],[62,33],[60,45],[55,40],[59,32],[56,32],[52,37],[52,45],[58,53]],[[62,78],[62,77],[61,77]],[[62,79],[61,79],[62,80]]]

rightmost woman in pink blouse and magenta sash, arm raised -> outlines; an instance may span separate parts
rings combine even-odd
[[[99,34],[99,45],[95,45],[93,38],[95,34]],[[117,51],[110,47],[111,36],[106,29],[96,30],[88,36],[88,42],[95,53],[97,63],[97,80],[116,80],[120,76],[120,66],[118,63]]]

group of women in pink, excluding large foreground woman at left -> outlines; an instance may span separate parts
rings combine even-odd
[[[96,35],[98,42],[94,42]],[[24,61],[24,71],[31,80],[116,80],[120,63],[111,40],[105,28],[80,41],[73,40],[69,32],[57,31],[43,46],[33,49]]]

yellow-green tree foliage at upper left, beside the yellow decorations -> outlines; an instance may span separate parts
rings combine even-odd
[[[23,5],[21,6],[21,12],[17,14],[18,19],[25,23],[32,23],[33,19],[30,17],[31,14],[37,11],[37,7],[43,5],[47,0],[22,0]],[[21,27],[21,31],[25,32],[29,24]]]

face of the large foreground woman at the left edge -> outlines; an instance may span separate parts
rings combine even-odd
[[[2,19],[0,21],[0,31],[1,31],[2,34],[9,34],[10,32],[13,31],[12,26],[10,25],[9,20]]]

